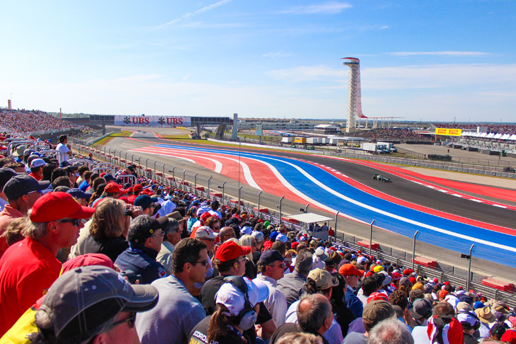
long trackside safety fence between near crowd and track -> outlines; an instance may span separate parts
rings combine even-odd
[[[252,214],[255,217],[269,220],[275,224],[281,223],[292,230],[305,230],[302,224],[290,222],[288,220],[288,215],[291,214],[283,213],[283,197],[279,198],[277,204],[264,204],[260,197],[261,191],[254,194],[246,191],[246,195],[244,196],[241,193],[243,186],[239,186],[235,188],[238,191],[238,196],[228,195],[225,192],[226,182],[222,182],[222,185],[220,183],[214,185],[211,183],[211,179],[213,177],[202,180],[197,178],[197,173],[190,173],[187,169],[176,171],[176,166],[169,166],[162,163],[158,164],[158,160],[142,158],[142,156],[137,154],[114,150],[110,147],[103,147],[101,145],[90,147],[86,142],[82,142],[80,140],[74,140],[72,148],[85,155],[92,153],[94,159],[109,162],[120,168],[126,168],[131,164],[135,164],[136,173],[138,173],[138,175],[143,175],[146,178],[155,180],[166,186],[187,191],[197,197],[218,200],[220,204],[225,204],[226,206],[240,206],[241,210],[247,211],[247,213]],[[305,212],[308,211],[309,205],[310,204],[307,204],[305,207]],[[267,208],[266,213],[263,212],[264,208]],[[276,211],[275,209],[279,209],[279,211]],[[327,215],[327,213],[322,214]],[[467,255],[469,258],[466,259],[469,259],[470,262],[471,260],[475,261],[475,255],[482,255],[484,257],[495,257],[499,264],[514,266],[516,257],[513,255],[505,255],[497,250],[489,250],[488,248],[480,248],[474,245],[467,246],[466,244],[458,244],[456,241],[446,239],[439,235],[429,235],[427,233],[420,232],[402,233],[402,235],[398,235],[400,243],[402,243],[402,241],[410,241],[410,239],[412,239],[412,251],[390,247],[383,244],[376,247],[374,243],[381,243],[385,240],[386,235],[392,236],[394,233],[378,227],[380,224],[377,223],[377,226],[373,226],[373,224],[370,226],[371,230],[369,236],[358,236],[352,234],[358,232],[357,228],[352,228],[348,224],[339,224],[338,213],[334,214],[334,216],[333,228],[335,228],[336,235],[335,237],[332,237],[332,240],[338,245],[350,247],[354,250],[365,250],[366,252],[370,248],[372,254],[380,257],[380,259],[387,259],[392,262],[396,261],[398,265],[405,267],[413,266],[414,270],[418,271],[420,275],[448,280],[455,283],[455,285],[462,286],[464,288],[469,286],[470,289],[473,288],[475,291],[480,291],[482,294],[485,294],[488,297],[494,297],[497,300],[507,299],[511,297],[511,295],[514,295],[513,291],[504,292],[502,290],[482,285],[482,279],[490,276],[459,268],[458,266],[462,264],[443,264],[438,262],[436,266],[424,266],[422,264],[418,264],[418,259],[413,259],[413,257],[424,255],[422,252],[427,252],[429,250],[429,244],[438,244],[439,246],[447,248],[453,252],[457,252],[458,260],[461,259],[461,255]],[[329,225],[331,225],[331,223],[329,223]],[[391,241],[396,241],[396,239]],[[407,246],[406,244],[407,242],[405,242],[405,246]],[[438,252],[436,252],[436,255],[438,255]],[[482,261],[479,261],[479,264],[482,264]],[[512,301],[512,299],[507,299],[506,302],[508,304],[512,304],[514,302],[514,305],[516,305],[516,301]]]

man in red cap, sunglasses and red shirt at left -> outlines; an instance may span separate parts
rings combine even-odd
[[[25,239],[0,259],[0,335],[57,279],[61,263],[56,255],[77,242],[81,219],[89,219],[94,211],[67,193],[47,193],[34,202],[28,213],[32,224],[21,230]]]

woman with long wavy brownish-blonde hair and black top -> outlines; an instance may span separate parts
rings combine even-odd
[[[127,250],[129,216],[125,216],[125,202],[109,198],[95,208],[89,235],[85,241],[84,253],[104,253],[116,261],[120,253]]]

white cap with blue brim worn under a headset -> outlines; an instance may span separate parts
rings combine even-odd
[[[230,277],[235,278],[235,277]],[[239,277],[236,277],[239,278]],[[265,301],[269,297],[269,288],[260,281],[251,281],[247,277],[241,277],[247,286],[247,297],[249,303],[254,307],[257,303]],[[224,281],[227,281],[224,279]],[[244,310],[246,298],[244,294],[233,283],[226,282],[220,286],[215,294],[215,303],[221,303],[228,308],[230,315],[237,316]]]

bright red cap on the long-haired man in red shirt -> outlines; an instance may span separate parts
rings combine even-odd
[[[58,219],[89,219],[94,208],[81,206],[69,193],[46,193],[36,200],[30,213],[35,223],[57,221]]]

